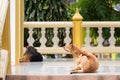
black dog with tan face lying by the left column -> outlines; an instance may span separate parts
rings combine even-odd
[[[20,62],[37,62],[43,61],[42,54],[37,52],[37,50],[32,46],[27,46],[25,54],[20,59]]]

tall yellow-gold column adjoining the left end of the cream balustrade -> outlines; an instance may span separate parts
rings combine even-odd
[[[16,0],[16,65],[23,53],[24,0]]]

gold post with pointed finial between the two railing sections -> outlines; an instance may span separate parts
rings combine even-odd
[[[76,13],[72,17],[73,19],[73,44],[76,44],[79,48],[82,47],[82,19],[83,17],[79,14],[78,8]]]

